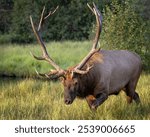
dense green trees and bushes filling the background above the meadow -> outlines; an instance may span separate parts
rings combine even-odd
[[[150,63],[149,0],[1,0],[0,44],[32,43],[29,15],[38,23],[41,10],[59,5],[43,28],[45,41],[87,40],[93,38],[95,17],[86,3],[96,3],[103,15],[101,42],[110,49],[137,52],[144,68]]]

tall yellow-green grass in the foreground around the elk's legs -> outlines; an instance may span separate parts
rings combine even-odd
[[[99,120],[150,119],[150,75],[142,75],[137,87],[141,104],[127,104],[126,95],[110,96],[96,112],[85,100],[75,99],[66,106],[59,82],[0,80],[0,119],[13,120]]]

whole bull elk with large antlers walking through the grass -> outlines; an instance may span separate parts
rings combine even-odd
[[[46,16],[44,16],[44,7],[37,29],[30,16],[33,32],[43,53],[42,57],[32,55],[37,60],[47,61],[55,69],[45,74],[37,72],[38,75],[50,79],[62,78],[64,102],[67,105],[72,104],[74,99],[79,97],[85,98],[91,109],[97,109],[109,95],[117,95],[121,90],[126,93],[129,103],[132,100],[140,102],[139,95],[135,91],[142,70],[140,57],[127,50],[100,50],[98,40],[102,28],[101,13],[94,3],[92,7],[89,4],[87,6],[96,17],[95,39],[90,52],[85,58],[79,64],[67,70],[61,69],[53,61],[40,36],[44,21],[54,14],[58,7]]]

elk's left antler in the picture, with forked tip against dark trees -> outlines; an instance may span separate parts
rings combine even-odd
[[[54,14],[56,12],[56,10],[58,9],[58,6],[55,8],[55,10],[52,12],[50,11],[48,13],[48,15],[46,15],[44,17],[44,11],[45,11],[45,6],[43,8],[43,11],[41,13],[41,18],[40,18],[40,22],[39,22],[39,25],[38,25],[38,29],[35,29],[35,26],[34,26],[34,23],[32,21],[32,17],[30,16],[30,22],[31,22],[31,25],[32,25],[32,29],[33,29],[33,32],[34,32],[34,35],[36,36],[36,39],[39,43],[39,45],[41,46],[41,50],[42,50],[42,57],[37,57],[35,55],[33,55],[32,53],[32,56],[37,59],[37,60],[45,60],[47,61],[49,64],[51,64],[56,70],[52,70],[50,71],[48,74],[41,74],[41,73],[38,73],[37,71],[37,74],[40,75],[40,76],[46,76],[48,78],[57,78],[57,77],[60,77],[60,76],[63,76],[65,71],[63,69],[61,69],[53,60],[52,58],[48,55],[48,52],[46,50],[46,46],[39,34],[40,30],[41,30],[41,25],[44,23],[44,21],[49,17],[51,16],[52,14]]]

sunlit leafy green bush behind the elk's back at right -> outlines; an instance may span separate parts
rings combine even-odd
[[[144,67],[147,68],[150,63],[150,21],[144,20],[138,5],[138,0],[122,3],[113,0],[110,6],[106,6],[101,39],[106,48],[135,51],[142,57]]]

